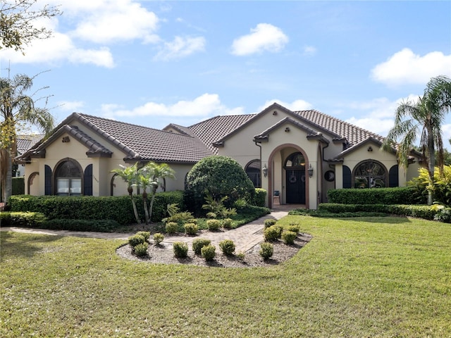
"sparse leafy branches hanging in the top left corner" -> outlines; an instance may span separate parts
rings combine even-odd
[[[47,27],[37,27],[39,20],[61,15],[57,6],[36,6],[37,0],[0,1],[0,49],[23,52],[23,46],[35,39],[51,37]]]

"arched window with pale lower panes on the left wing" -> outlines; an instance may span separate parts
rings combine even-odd
[[[58,196],[80,196],[82,194],[82,169],[73,160],[56,165],[55,187]]]

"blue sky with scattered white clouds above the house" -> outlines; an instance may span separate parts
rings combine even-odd
[[[56,122],[78,111],[159,129],[278,102],[385,136],[400,101],[451,76],[451,1],[39,3],[61,4],[41,23],[54,37],[2,49],[0,75],[41,73]]]

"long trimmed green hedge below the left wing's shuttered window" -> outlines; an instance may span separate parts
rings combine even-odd
[[[142,196],[134,195],[140,218],[144,220]],[[183,209],[183,192],[159,192],[155,196],[152,221],[167,216],[167,205]],[[49,219],[115,220],[121,225],[135,223],[130,196],[11,196],[11,211],[41,212]]]

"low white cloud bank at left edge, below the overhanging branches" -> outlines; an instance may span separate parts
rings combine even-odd
[[[113,55],[108,48],[80,49],[68,35],[55,32],[50,39],[36,40],[25,49],[25,55],[11,49],[1,50],[0,58],[12,63],[53,63],[68,60],[113,68]]]

